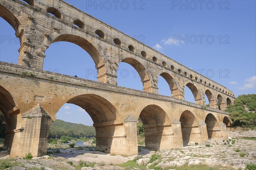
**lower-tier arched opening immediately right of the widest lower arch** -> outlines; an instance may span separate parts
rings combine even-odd
[[[157,105],[148,105],[141,111],[140,119],[145,131],[145,147],[152,150],[161,150],[166,147],[169,140],[165,138],[168,139],[167,135],[172,131],[166,112]]]

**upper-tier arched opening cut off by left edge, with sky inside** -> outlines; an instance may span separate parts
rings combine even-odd
[[[20,22],[17,18],[0,5],[0,32],[1,32],[1,50],[0,61],[7,63],[18,63],[19,48],[23,41],[23,36],[16,37],[15,33],[19,30]]]

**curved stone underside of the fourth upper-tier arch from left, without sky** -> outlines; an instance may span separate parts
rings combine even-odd
[[[180,91],[178,89],[177,83],[175,81],[175,79],[172,77],[172,75],[170,75],[167,72],[161,72],[160,76],[162,76],[166,82],[168,83],[170,90],[172,92],[172,97],[173,98],[179,98],[180,96]]]

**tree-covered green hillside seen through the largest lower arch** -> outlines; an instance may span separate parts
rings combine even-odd
[[[56,120],[52,122],[49,131],[49,138],[60,138],[63,135],[70,137],[92,137],[95,136],[95,128],[93,126],[85,126],[83,124],[73,124],[66,121]]]

